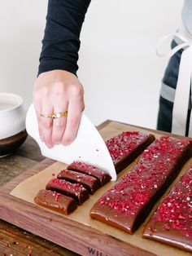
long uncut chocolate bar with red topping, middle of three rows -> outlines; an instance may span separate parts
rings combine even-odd
[[[90,210],[90,216],[125,232],[141,225],[191,153],[191,141],[161,137]]]

